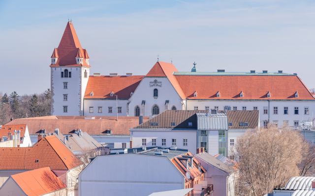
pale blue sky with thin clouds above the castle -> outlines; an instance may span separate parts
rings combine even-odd
[[[72,19],[91,74],[297,73],[315,88],[314,0],[0,0],[0,92],[50,88],[51,55]]]

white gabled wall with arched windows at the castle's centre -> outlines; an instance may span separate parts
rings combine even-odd
[[[150,82],[154,80],[161,82],[161,87],[150,87]],[[153,97],[154,89],[158,89],[158,98]],[[132,97],[129,99],[129,116],[134,116],[134,109],[138,105],[140,107],[140,114],[143,116],[150,116],[153,105],[157,104],[159,112],[165,110],[165,100],[169,100],[168,109],[174,105],[178,110],[182,109],[181,98],[173,88],[172,84],[166,77],[145,77],[140,82],[137,89],[134,91]],[[146,101],[145,112],[141,112],[142,100]]]

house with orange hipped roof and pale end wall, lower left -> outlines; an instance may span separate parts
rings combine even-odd
[[[83,163],[56,136],[42,138],[32,147],[0,147],[0,185],[11,175],[44,167],[50,169],[74,196],[74,185]]]

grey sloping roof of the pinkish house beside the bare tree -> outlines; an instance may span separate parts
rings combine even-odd
[[[200,153],[195,154],[194,156],[202,159],[204,162],[212,165],[213,167],[221,170],[222,172],[225,172],[227,174],[232,174],[234,172],[234,169],[227,164],[223,163],[222,161],[216,159],[214,156],[211,156],[208,153]]]

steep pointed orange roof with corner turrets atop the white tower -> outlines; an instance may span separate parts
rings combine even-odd
[[[55,51],[58,51],[58,60],[55,65],[51,64],[50,65],[51,67],[56,67],[56,66],[91,67],[90,65],[87,64],[85,60],[83,60],[83,63],[77,64],[75,57],[77,56],[78,52],[80,53],[82,57],[84,54],[87,55],[88,53],[85,49],[82,49],[72,22],[67,23],[65,30],[63,32],[63,37],[61,38],[61,41],[57,50],[54,49],[52,58],[54,55],[56,55]]]

